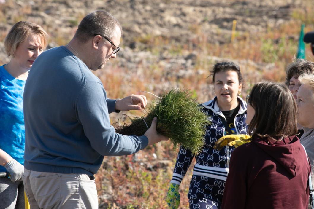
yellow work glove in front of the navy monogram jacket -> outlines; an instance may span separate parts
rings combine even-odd
[[[230,134],[223,136],[215,142],[214,149],[221,150],[222,147],[235,146],[236,148],[247,142],[251,142],[251,137],[246,134]]]

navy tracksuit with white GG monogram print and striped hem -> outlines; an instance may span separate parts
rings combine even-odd
[[[246,103],[240,97],[238,97],[238,101],[240,109],[234,118],[235,133],[233,134],[247,134]],[[193,168],[188,192],[190,208],[220,209],[229,172],[229,160],[235,148],[226,146],[220,151],[213,148],[215,142],[226,135],[227,129],[221,121],[221,118],[225,118],[225,116],[219,110],[216,97],[202,105],[203,111],[207,113],[208,120],[211,122],[204,136],[205,146],[198,156],[193,156],[190,150],[180,147],[171,183],[181,184],[195,157],[196,164]]]

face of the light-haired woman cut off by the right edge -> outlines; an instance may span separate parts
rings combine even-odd
[[[307,85],[301,85],[297,92],[298,123],[305,128],[314,128],[313,91]]]

